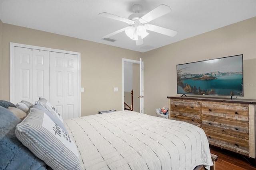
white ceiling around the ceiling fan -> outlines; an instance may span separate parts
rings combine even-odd
[[[150,21],[154,25],[178,31],[168,37],[148,31],[144,44],[136,46],[124,32],[111,39],[102,37],[128,24],[104,18],[108,12],[128,18],[131,7],[141,4],[146,14],[165,4],[172,12]],[[146,52],[195,35],[256,16],[256,0],[0,0],[0,20],[3,23],[38,29],[97,43]]]

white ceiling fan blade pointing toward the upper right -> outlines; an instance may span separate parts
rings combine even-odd
[[[161,4],[160,6],[156,7],[154,10],[148,12],[148,14],[145,14],[140,18],[140,20],[143,21],[143,23],[147,23],[149,21],[152,21],[160,16],[163,16],[165,14],[168,14],[171,12],[171,8],[167,5]]]

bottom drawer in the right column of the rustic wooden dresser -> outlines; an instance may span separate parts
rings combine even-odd
[[[218,146],[224,149],[232,150],[240,154],[249,154],[249,141],[246,139],[217,133],[213,131],[208,131],[204,129],[206,136],[208,138],[209,144]]]

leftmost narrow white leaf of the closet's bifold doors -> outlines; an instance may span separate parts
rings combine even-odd
[[[14,76],[13,76],[13,96],[14,104],[21,100],[33,102],[33,51],[32,49],[14,47]]]

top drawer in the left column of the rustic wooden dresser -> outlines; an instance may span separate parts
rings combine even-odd
[[[171,111],[200,114],[200,103],[198,102],[171,101],[170,107]]]

